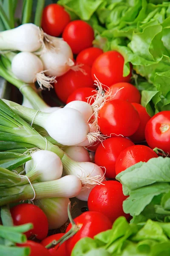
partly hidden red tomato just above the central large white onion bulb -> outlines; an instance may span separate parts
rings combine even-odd
[[[71,95],[67,99],[66,104],[74,100],[81,100],[84,102],[88,102],[87,98],[95,94],[96,94],[96,90],[94,90],[94,88],[91,88],[91,87],[78,88],[73,93],[71,93]],[[93,103],[94,103],[94,99],[91,100],[91,104]]]

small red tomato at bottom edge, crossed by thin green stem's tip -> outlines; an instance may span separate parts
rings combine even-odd
[[[64,233],[48,236],[41,241],[41,244],[45,247],[46,245],[50,244],[53,240],[59,240],[62,236],[64,236]],[[48,251],[50,255],[53,255],[53,256],[67,256],[65,243],[63,243],[61,246],[57,244],[55,247],[48,249]]]

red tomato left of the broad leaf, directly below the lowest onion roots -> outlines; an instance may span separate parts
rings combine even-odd
[[[112,223],[119,216],[129,215],[123,212],[123,201],[127,196],[123,195],[122,184],[115,180],[102,182],[104,185],[95,186],[88,197],[89,211],[98,211],[107,216]]]

